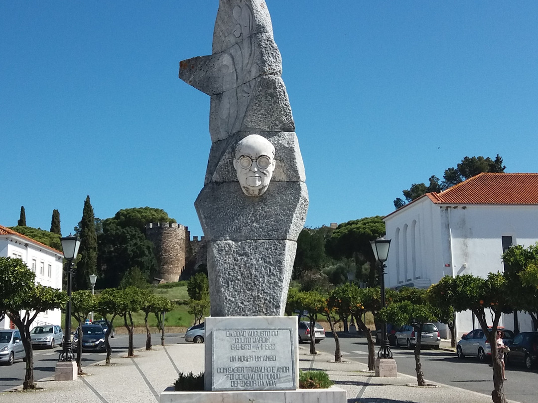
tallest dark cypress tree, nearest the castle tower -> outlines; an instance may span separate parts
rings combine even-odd
[[[94,208],[87,196],[80,221],[80,261],[76,265],[74,289],[88,289],[88,275],[96,273],[97,268],[97,233],[95,231]]]

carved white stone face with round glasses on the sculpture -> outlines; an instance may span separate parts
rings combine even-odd
[[[265,137],[251,134],[237,143],[233,168],[247,196],[265,193],[273,177],[274,166],[274,146]]]

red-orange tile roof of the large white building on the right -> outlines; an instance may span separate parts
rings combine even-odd
[[[538,173],[480,173],[426,196],[435,204],[538,204]]]

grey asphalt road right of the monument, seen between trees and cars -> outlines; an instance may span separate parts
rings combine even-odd
[[[316,345],[318,351],[331,354],[334,359],[334,339],[328,337]],[[365,337],[341,337],[343,359],[352,359],[368,363],[367,344]],[[307,344],[304,344],[307,346]],[[377,354],[378,348],[376,348]],[[415,357],[412,350],[393,348],[393,355],[398,365],[398,372],[416,377]],[[487,363],[478,362],[478,358],[459,360],[455,352],[442,350],[424,350],[421,352],[422,371],[424,378],[429,381],[453,387],[463,388],[488,396],[493,390],[493,371]],[[536,370],[527,372],[522,367],[508,366],[506,369],[505,393],[508,400],[521,403],[538,401]]]

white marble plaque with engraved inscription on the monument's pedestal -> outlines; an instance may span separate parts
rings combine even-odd
[[[296,388],[291,329],[213,329],[214,391]]]

